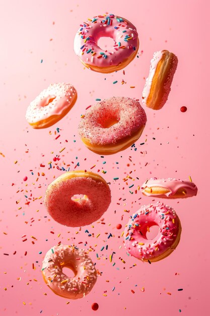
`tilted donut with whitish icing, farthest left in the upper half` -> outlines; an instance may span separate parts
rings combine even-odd
[[[26,120],[36,129],[52,126],[72,109],[76,100],[77,91],[71,84],[50,84],[30,103]]]

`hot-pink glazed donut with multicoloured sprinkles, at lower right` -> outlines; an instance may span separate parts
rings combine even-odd
[[[154,239],[147,239],[151,226],[159,226]],[[143,205],[133,214],[125,228],[125,248],[135,258],[149,263],[159,261],[171,254],[181,236],[181,223],[175,210],[157,202]]]

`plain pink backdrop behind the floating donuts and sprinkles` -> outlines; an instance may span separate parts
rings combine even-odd
[[[0,155],[0,314],[33,316],[39,315],[41,310],[41,314],[47,316],[209,314],[207,1],[1,0],[0,6],[0,151],[5,155]],[[91,72],[84,69],[74,54],[73,41],[79,24],[106,12],[130,20],[139,34],[139,58],[125,68],[125,75],[122,70],[107,75]],[[96,103],[96,98],[129,96],[141,99],[150,60],[153,52],[159,49],[173,51],[179,60],[167,104],[158,112],[146,109],[148,123],[141,139],[136,142],[136,151],[129,147],[104,158],[92,153],[78,137],[80,115],[85,113],[87,106]],[[126,84],[121,85],[122,79]],[[118,83],[113,85],[115,80]],[[54,82],[74,84],[78,101],[71,112],[52,128],[34,130],[25,121],[27,106],[43,88]],[[180,112],[181,106],[187,107],[186,113]],[[57,140],[54,135],[56,127],[61,129]],[[142,142],[145,144],[140,145]],[[63,147],[65,150],[59,153]],[[98,238],[88,237],[86,228],[79,231],[63,227],[47,215],[42,204],[46,186],[53,176],[62,173],[56,168],[48,170],[48,162],[56,154],[60,154],[59,166],[65,163],[74,169],[79,162],[79,170],[90,170],[95,164],[92,171],[100,170],[102,176],[102,168],[107,171],[104,178],[111,182],[112,203],[104,215],[106,224],[101,225],[99,221],[94,223],[94,228],[87,227],[95,236],[100,233]],[[14,163],[16,160],[17,164]],[[105,165],[103,161],[106,161]],[[40,164],[45,167],[40,167]],[[152,265],[127,256],[123,238],[118,238],[129,215],[139,205],[152,202],[152,198],[144,197],[139,191],[137,194],[129,193],[130,189],[122,179],[131,171],[130,176],[135,180],[127,182],[134,184],[132,191],[151,176],[188,179],[190,175],[198,187],[196,197],[164,200],[180,217],[181,241],[174,253]],[[26,182],[23,181],[25,176],[28,177]],[[113,181],[113,177],[119,177],[119,180]],[[28,198],[31,195],[31,200],[25,195]],[[33,200],[40,196],[42,198]],[[25,204],[27,201],[30,201],[29,205]],[[130,210],[130,214],[124,209]],[[118,223],[123,226],[120,231],[116,229]],[[105,232],[111,232],[113,237],[107,240]],[[61,233],[60,237],[57,237],[58,233]],[[22,238],[24,235],[26,237]],[[27,240],[23,242],[25,238]],[[59,241],[75,243],[82,248],[87,241],[85,248],[93,247],[95,251],[89,254],[102,272],[87,297],[72,300],[69,304],[66,304],[67,299],[56,296],[47,288],[40,273],[45,252]],[[100,251],[106,244],[108,250]],[[14,251],[17,251],[15,255]],[[114,267],[109,262],[112,251],[116,252]],[[119,257],[126,263],[123,264]],[[132,267],[133,264],[136,266]],[[145,287],[145,292],[141,291],[142,287]],[[183,291],[178,291],[179,288]],[[107,291],[107,296],[103,295],[104,291]],[[93,302],[99,304],[98,311],[91,309]]]

